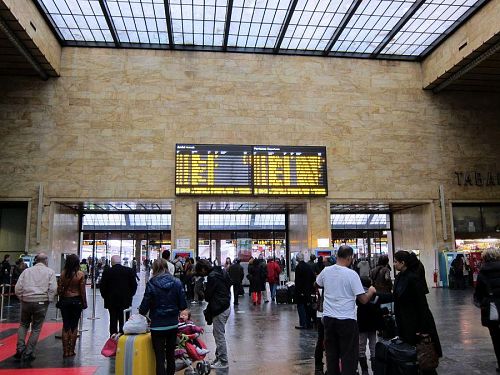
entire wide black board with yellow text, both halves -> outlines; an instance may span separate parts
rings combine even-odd
[[[328,194],[326,148],[176,145],[176,195]]]

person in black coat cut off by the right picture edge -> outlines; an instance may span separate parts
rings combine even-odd
[[[490,302],[500,307],[500,250],[483,252],[483,266],[477,277],[474,303],[481,308],[481,324],[490,331],[493,349],[497,357],[497,372],[500,372],[500,322],[490,320]]]

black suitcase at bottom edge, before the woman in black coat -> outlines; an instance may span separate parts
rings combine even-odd
[[[418,375],[417,350],[399,339],[375,345],[374,375]]]

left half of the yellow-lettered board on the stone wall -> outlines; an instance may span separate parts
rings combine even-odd
[[[251,195],[252,147],[176,145],[175,194]]]

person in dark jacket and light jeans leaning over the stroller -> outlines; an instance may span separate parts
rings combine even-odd
[[[231,279],[222,267],[212,267],[209,261],[200,259],[196,263],[196,274],[208,276],[205,288],[205,300],[208,306],[204,311],[207,324],[212,320],[215,339],[215,360],[211,367],[215,369],[228,368],[225,326],[231,312]]]

